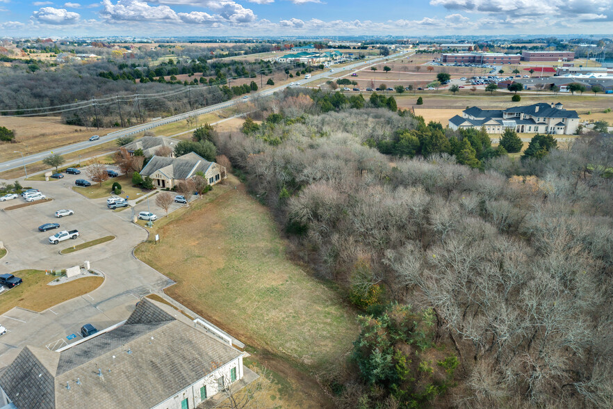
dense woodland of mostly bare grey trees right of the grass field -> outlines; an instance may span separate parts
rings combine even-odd
[[[478,135],[371,102],[322,112],[334,98],[288,90],[215,143],[364,311],[352,358],[319,374],[338,406],[613,406],[612,138],[479,158]],[[420,149],[374,148],[403,134]]]

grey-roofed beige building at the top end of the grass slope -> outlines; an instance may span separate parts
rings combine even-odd
[[[204,179],[209,184],[216,184],[227,175],[226,168],[218,163],[209,162],[194,152],[177,158],[154,155],[145,168],[142,168],[140,175],[151,177],[154,186],[158,188],[172,189],[179,182],[194,177],[199,172],[204,174]]]

